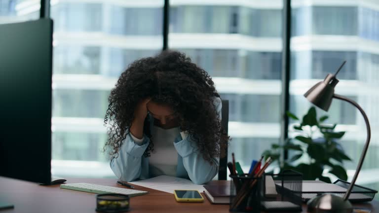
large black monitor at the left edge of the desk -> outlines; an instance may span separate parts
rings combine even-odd
[[[0,176],[51,180],[51,19],[0,25]]]

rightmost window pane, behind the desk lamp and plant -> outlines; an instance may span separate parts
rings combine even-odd
[[[362,7],[359,2],[338,6],[333,3],[293,5],[293,31],[291,39],[291,111],[302,116],[311,106],[303,93],[335,73],[341,63],[345,66],[337,75],[340,82],[336,93],[356,101],[366,111],[371,129],[378,127],[379,54],[378,7]],[[333,100],[328,112],[317,109],[319,116],[328,114],[327,123],[337,123],[346,134],[341,145],[352,162],[346,162],[349,179],[355,172],[366,139],[366,126],[359,111],[347,102]],[[372,136],[369,152],[357,183],[377,186],[379,137]],[[370,176],[370,179],[362,178]],[[332,178],[332,181],[334,179]]]

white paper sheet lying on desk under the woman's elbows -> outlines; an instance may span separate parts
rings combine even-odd
[[[176,178],[171,176],[158,176],[155,178],[133,181],[130,183],[146,188],[168,192],[171,194],[174,194],[175,189],[199,190],[199,192],[202,192],[204,190],[203,185],[196,185],[189,179]]]

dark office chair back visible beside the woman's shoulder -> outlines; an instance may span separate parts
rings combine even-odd
[[[227,132],[227,124],[229,122],[229,100],[222,100],[222,109],[221,109],[221,126]],[[219,180],[227,179],[227,144],[225,150],[225,157],[220,158],[219,164]]]

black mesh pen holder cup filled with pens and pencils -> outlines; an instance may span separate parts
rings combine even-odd
[[[229,212],[261,212],[262,178],[254,178],[249,174],[230,175],[230,206]]]

